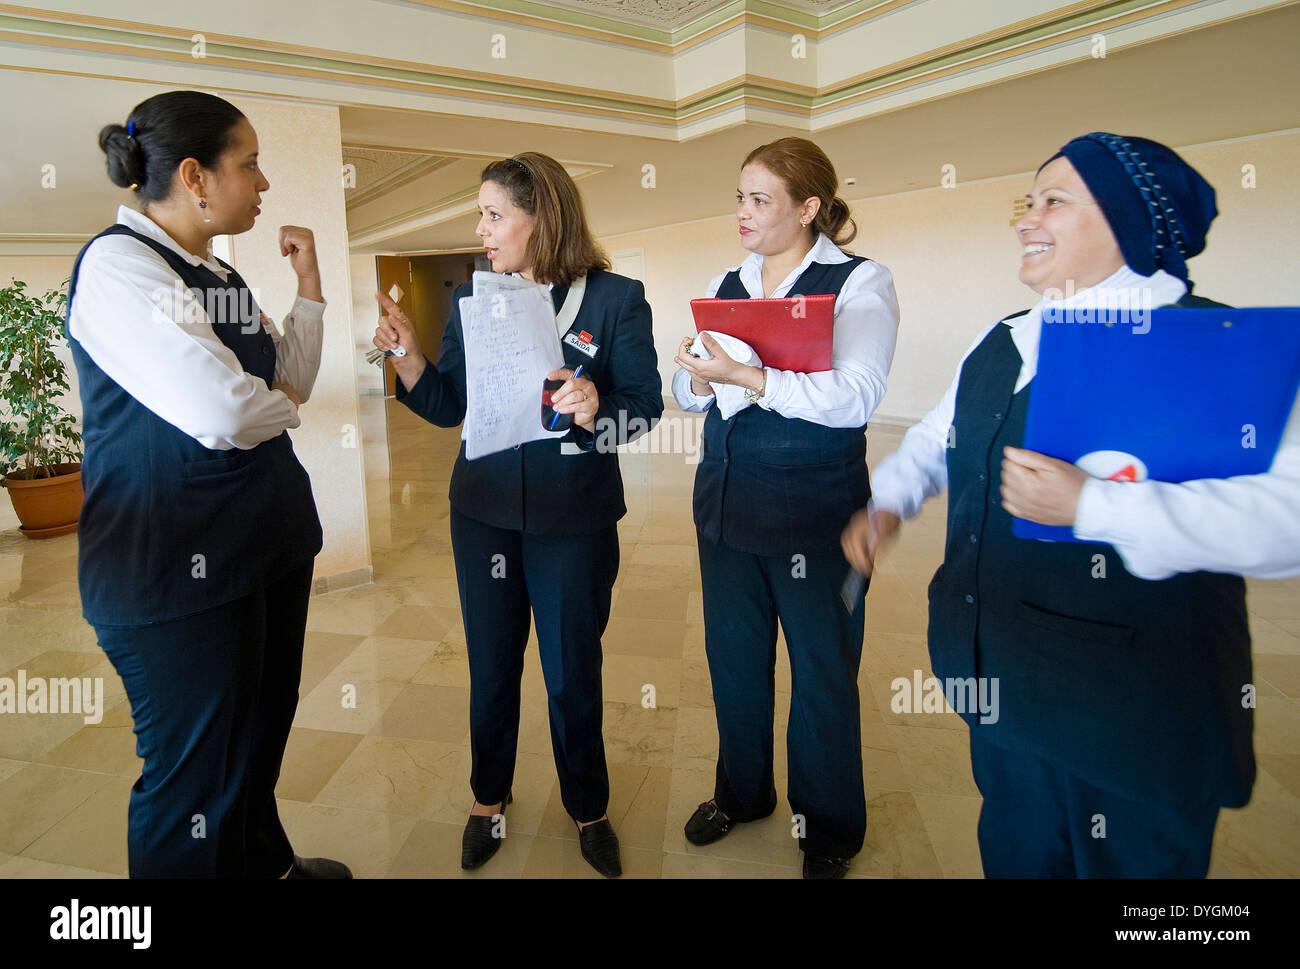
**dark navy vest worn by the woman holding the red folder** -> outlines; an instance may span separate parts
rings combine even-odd
[[[838,295],[864,261],[812,263],[788,295]],[[727,274],[718,298],[749,298],[740,271]],[[715,544],[758,555],[838,551],[840,532],[871,497],[864,432],[864,424],[831,428],[758,405],[723,420],[710,407],[696,470],[696,527]]]

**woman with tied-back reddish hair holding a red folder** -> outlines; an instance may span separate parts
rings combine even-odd
[[[750,256],[708,286],[710,297],[729,299],[836,295],[831,369],[746,363],[701,336],[711,359],[690,355],[693,338],[682,339],[672,384],[684,410],[708,412],[694,515],[719,736],[714,796],[686,822],[686,838],[710,844],[776,809],[779,619],[792,679],[789,803],[806,878],[842,877],[866,835],[863,609],[855,602],[850,614],[841,602],[848,563],[838,536],[870,494],[864,431],[885,393],[898,326],[889,271],[841,248],[857,226],[837,185],[812,142],[781,138],[751,151],[736,194]],[[741,399],[724,399],[738,388]]]

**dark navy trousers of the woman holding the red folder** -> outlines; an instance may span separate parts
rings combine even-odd
[[[840,553],[753,555],[697,537],[705,650],[718,714],[714,799],[734,821],[776,809],[772,727],[780,619],[790,657],[788,796],[805,822],[800,847],[853,857],[867,831],[858,704],[864,607],[859,601],[850,615],[840,601],[849,564]]]

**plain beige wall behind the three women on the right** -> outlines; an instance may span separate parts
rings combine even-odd
[[[1192,260],[1196,293],[1239,306],[1300,304],[1291,265],[1300,251],[1300,131],[1180,150],[1216,186],[1219,217],[1204,255]],[[1254,165],[1257,187],[1242,187]],[[942,395],[971,339],[988,324],[1036,300],[1017,280],[1010,229],[1014,199],[1032,170],[954,189],[928,189],[850,203],[859,226],[850,248],[889,268],[902,323],[889,386],[875,420],[910,424]],[[671,398],[673,351],[693,330],[689,302],[710,278],[746,255],[733,216],[624,233],[612,248],[645,250],[646,295]]]

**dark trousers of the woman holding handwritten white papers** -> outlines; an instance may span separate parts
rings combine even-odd
[[[550,705],[564,809],[597,821],[610,803],[601,695],[601,636],[619,574],[619,532],[545,537],[451,510],[460,611],[469,652],[469,786],[504,800],[519,747],[520,678],[532,611]]]

